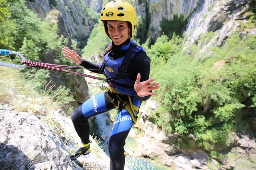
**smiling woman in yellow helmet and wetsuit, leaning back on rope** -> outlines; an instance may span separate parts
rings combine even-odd
[[[110,109],[117,109],[108,150],[110,169],[122,170],[125,162],[125,139],[133,123],[136,123],[141,102],[149,99],[151,95],[157,95],[152,93],[152,90],[158,89],[159,83],[152,83],[154,79],[149,79],[150,59],[146,51],[130,40],[136,27],[136,12],[133,6],[123,0],[109,2],[102,9],[100,20],[112,40],[105,49],[103,63],[86,61],[73,50],[63,48],[65,56],[75,63],[106,77],[115,77],[105,92],[91,97],[72,111],[71,119],[81,142],[70,151],[70,158],[76,159],[81,154],[90,153],[88,118]]]

